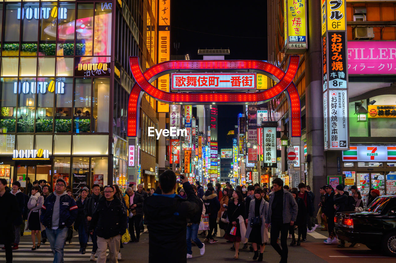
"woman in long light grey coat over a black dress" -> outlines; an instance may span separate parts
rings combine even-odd
[[[268,212],[269,203],[261,196],[263,190],[254,190],[254,199],[250,201],[249,215],[247,217],[247,229],[245,237],[249,239],[253,246],[253,260],[263,261],[265,245],[268,242],[268,229],[265,227],[265,216]],[[260,254],[257,251],[257,244],[260,244]]]

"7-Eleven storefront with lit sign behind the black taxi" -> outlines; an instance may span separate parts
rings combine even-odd
[[[371,188],[396,194],[396,146],[351,145],[342,158],[345,185],[356,185],[365,205]]]

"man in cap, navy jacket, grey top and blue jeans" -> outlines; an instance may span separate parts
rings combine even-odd
[[[65,190],[66,182],[56,180],[55,192],[48,195],[41,209],[41,222],[46,227],[54,263],[63,262],[67,231],[78,214],[76,201]]]

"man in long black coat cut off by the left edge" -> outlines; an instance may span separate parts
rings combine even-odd
[[[12,262],[11,243],[15,241],[14,222],[20,219],[21,212],[17,198],[9,192],[6,192],[7,180],[0,179],[0,207],[2,216],[0,216],[0,244],[4,244],[3,250],[6,250],[6,262]],[[19,232],[19,229],[18,229]]]

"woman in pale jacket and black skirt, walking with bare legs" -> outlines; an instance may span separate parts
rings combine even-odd
[[[40,214],[41,207],[44,204],[44,196],[40,195],[41,188],[40,186],[33,186],[32,195],[30,195],[29,203],[27,203],[27,208],[30,210],[29,215],[27,216],[27,227],[32,231],[32,250],[36,250],[36,248],[40,248],[41,245],[41,223],[40,223]],[[36,237],[38,240],[36,246]]]

